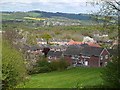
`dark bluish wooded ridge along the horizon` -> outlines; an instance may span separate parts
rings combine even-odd
[[[65,17],[69,19],[77,19],[77,20],[91,20],[90,14],[71,14],[71,13],[60,13],[60,12],[44,12],[44,11],[29,11],[32,13],[38,13],[40,16],[38,17],[46,17],[46,18],[51,18],[51,17]]]

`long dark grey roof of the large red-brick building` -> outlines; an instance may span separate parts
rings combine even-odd
[[[84,55],[84,56],[99,56],[102,52],[103,48],[99,47],[91,47],[87,45],[70,45],[66,51],[63,53],[64,55]]]

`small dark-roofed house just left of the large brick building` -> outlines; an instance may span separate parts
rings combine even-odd
[[[48,61],[58,60],[62,57],[62,51],[49,51],[47,54]]]

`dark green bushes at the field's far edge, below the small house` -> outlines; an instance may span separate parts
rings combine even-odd
[[[41,60],[37,62],[37,66],[29,74],[45,73],[50,71],[61,71],[68,67],[68,63],[63,59],[48,62],[46,58],[41,57]]]

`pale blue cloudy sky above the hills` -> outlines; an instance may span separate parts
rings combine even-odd
[[[0,11],[40,10],[76,14],[97,12],[100,6],[93,6],[86,3],[91,1],[92,0],[2,0],[0,1]]]

